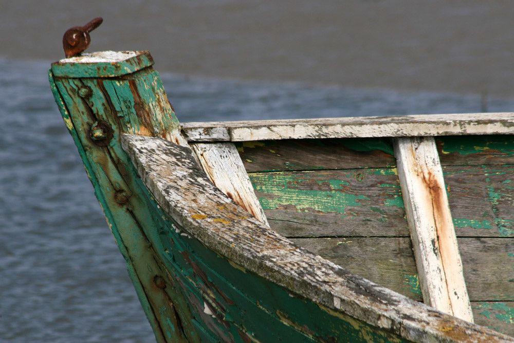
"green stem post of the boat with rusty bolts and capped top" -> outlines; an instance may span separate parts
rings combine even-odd
[[[144,210],[151,195],[120,143],[130,133],[187,145],[152,65],[148,51],[88,53],[53,63],[50,85],[157,341],[199,341],[155,243],[162,219]]]

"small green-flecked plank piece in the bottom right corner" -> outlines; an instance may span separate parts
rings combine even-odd
[[[513,301],[473,301],[475,322],[514,337]]]

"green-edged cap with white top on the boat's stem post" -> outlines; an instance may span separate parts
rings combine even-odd
[[[92,78],[132,74],[154,64],[149,51],[99,51],[52,63],[54,77]]]

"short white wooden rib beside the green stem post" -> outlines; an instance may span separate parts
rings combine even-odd
[[[191,147],[212,183],[237,205],[269,226],[233,143],[194,143]]]

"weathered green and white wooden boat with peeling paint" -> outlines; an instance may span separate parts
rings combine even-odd
[[[514,341],[514,114],[180,125],[152,65],[49,77],[157,341]]]

